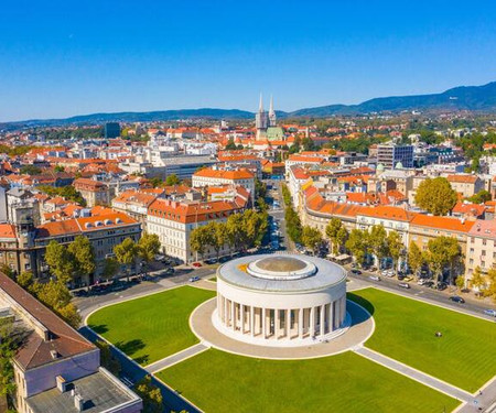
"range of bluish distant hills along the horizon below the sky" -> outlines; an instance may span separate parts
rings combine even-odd
[[[292,112],[278,111],[279,118],[314,117],[333,115],[364,115],[370,112],[400,112],[403,110],[471,110],[496,112],[496,81],[483,86],[460,86],[442,94],[391,96],[366,100],[359,105],[330,105],[316,108],[299,109]],[[179,119],[254,119],[255,113],[238,109],[180,109],[150,112],[93,113],[66,119],[35,119],[19,122],[0,123],[0,129],[11,127],[63,126],[103,123],[108,121],[149,122]]]

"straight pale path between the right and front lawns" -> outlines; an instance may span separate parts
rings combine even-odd
[[[354,351],[369,360],[373,360],[384,367],[387,367],[388,369],[395,370],[400,374],[407,376],[410,379],[417,380],[422,384],[429,385],[440,392],[449,394],[456,400],[470,402],[474,399],[474,396],[471,393],[466,392],[465,390],[459,389],[442,380],[435,379],[432,376],[425,374],[407,365],[403,365],[402,362],[390,359],[389,357],[386,357],[366,347],[355,348]]]

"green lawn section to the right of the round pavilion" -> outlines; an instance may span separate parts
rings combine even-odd
[[[496,374],[495,323],[376,289],[348,297],[374,314],[366,347],[470,392]]]

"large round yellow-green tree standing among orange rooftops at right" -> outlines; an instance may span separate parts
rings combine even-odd
[[[433,215],[446,215],[457,200],[445,177],[427,178],[417,188],[416,204]]]

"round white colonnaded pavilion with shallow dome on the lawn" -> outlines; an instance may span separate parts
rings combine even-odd
[[[214,326],[240,341],[303,346],[331,339],[351,325],[346,272],[326,260],[261,254],[217,270]]]

